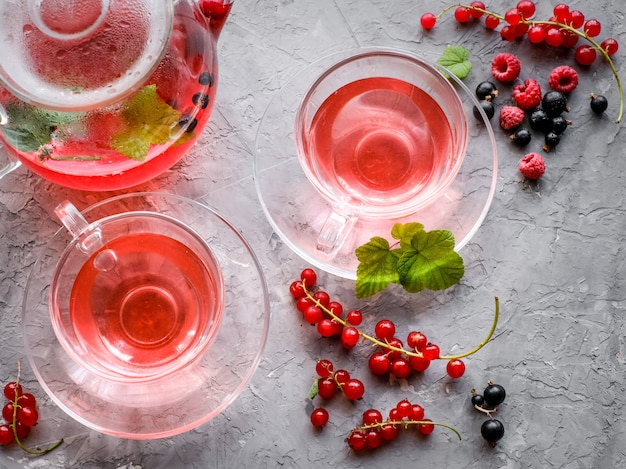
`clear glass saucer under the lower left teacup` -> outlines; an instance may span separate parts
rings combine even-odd
[[[203,239],[224,281],[224,310],[211,344],[192,362],[143,380],[113,379],[80,365],[51,324],[52,273],[71,241],[60,229],[30,273],[22,327],[26,353],[41,386],[68,415],[96,431],[129,439],[189,431],[222,412],[245,388],[264,349],[269,298],[257,257],[239,232],[213,209],[184,197],[126,194],[82,212],[90,222],[128,212],[158,213]]]

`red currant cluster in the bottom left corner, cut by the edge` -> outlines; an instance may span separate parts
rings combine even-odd
[[[37,399],[33,394],[23,391],[19,383],[19,373],[18,381],[12,381],[4,387],[4,396],[8,402],[2,408],[2,417],[6,423],[0,425],[0,445],[8,445],[15,441],[27,453],[39,455],[52,451],[63,442],[60,440],[42,451],[24,447],[21,440],[28,436],[31,428],[39,421]]]

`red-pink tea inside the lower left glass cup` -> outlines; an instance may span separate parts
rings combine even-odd
[[[116,266],[104,271],[112,252]],[[216,269],[160,234],[108,243],[82,267],[72,288],[70,321],[88,360],[95,368],[141,375],[206,343],[221,316]]]

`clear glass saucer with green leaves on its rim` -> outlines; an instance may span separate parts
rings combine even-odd
[[[463,164],[449,188],[430,205],[402,218],[359,218],[339,252],[332,258],[316,249],[318,234],[332,206],[306,178],[296,153],[294,127],[300,102],[325,70],[359,51],[329,55],[305,67],[273,97],[256,135],[254,178],[263,211],[274,231],[309,264],[340,277],[355,279],[355,249],[372,237],[391,241],[395,223],[418,222],[426,230],[450,230],[460,250],[485,219],[497,181],[498,157],[493,129],[473,93],[452,73],[447,73],[459,94],[468,120],[469,139]],[[396,51],[399,52],[399,51]],[[412,55],[408,52],[402,52]],[[420,57],[430,61],[432,57]],[[445,69],[437,68],[444,73]]]

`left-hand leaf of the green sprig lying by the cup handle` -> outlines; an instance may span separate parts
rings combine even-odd
[[[370,239],[356,249],[356,257],[359,260],[356,272],[357,298],[366,298],[384,290],[392,282],[398,283],[398,257],[389,249],[386,239]]]

